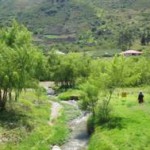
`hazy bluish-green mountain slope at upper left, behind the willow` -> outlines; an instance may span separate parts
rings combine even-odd
[[[88,29],[95,14],[87,4],[71,0],[1,0],[0,23],[16,18],[34,33],[64,34]]]

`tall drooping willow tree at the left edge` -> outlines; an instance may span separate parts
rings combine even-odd
[[[13,91],[17,100],[28,81],[33,80],[37,54],[31,33],[23,25],[14,21],[0,31],[0,110],[12,101]]]

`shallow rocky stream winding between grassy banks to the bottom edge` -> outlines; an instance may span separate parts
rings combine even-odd
[[[54,95],[55,92],[53,91],[52,88],[49,88],[49,85],[52,84],[51,82],[50,83],[41,82],[40,84],[47,90],[47,94],[49,96],[53,95],[55,97]],[[65,101],[64,103],[67,103],[69,105],[76,107],[77,110],[80,111],[80,115],[68,123],[71,129],[71,133],[70,133],[70,137],[68,141],[60,147],[57,145],[53,146],[52,150],[87,150],[88,141],[89,141],[89,135],[87,132],[87,119],[89,117],[89,114],[81,111],[78,108],[77,102],[74,100],[70,100],[68,102]],[[53,102],[53,104],[60,105],[57,102],[56,103]],[[52,113],[52,114],[55,114],[55,113]],[[53,116],[55,117],[55,115]]]

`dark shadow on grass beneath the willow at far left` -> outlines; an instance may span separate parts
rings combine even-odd
[[[6,129],[20,127],[26,122],[27,116],[15,110],[0,111],[0,126]]]

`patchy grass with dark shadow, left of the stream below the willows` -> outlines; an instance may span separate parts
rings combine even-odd
[[[37,100],[33,91],[22,93],[12,109],[1,112],[0,149],[46,150],[62,144],[69,135],[65,114],[62,112],[53,126],[48,124],[49,116],[50,103],[46,96]]]

